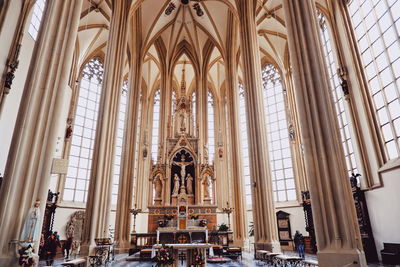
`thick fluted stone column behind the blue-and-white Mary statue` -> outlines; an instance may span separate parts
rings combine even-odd
[[[82,0],[47,3],[0,191],[0,266],[16,265],[16,243],[36,198],[44,214],[81,8]]]

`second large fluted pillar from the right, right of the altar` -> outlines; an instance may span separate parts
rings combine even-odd
[[[240,17],[250,175],[253,185],[254,241],[257,249],[279,251],[256,28],[257,1],[237,0],[237,3]]]

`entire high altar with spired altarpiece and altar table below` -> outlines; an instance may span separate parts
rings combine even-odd
[[[210,247],[208,231],[217,223],[214,166],[201,163],[199,139],[195,137],[192,103],[186,96],[184,82],[175,100],[170,131],[166,141],[165,162],[153,164],[150,175],[152,205],[148,231],[157,232],[157,246],[169,244],[174,250],[185,250],[190,262],[194,250]],[[205,149],[206,150],[206,149]],[[205,157],[207,160],[207,156]]]

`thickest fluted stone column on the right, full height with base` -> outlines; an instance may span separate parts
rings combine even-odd
[[[284,0],[320,266],[367,266],[330,97],[313,0]]]

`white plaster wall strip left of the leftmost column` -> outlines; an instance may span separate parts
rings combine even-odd
[[[13,5],[10,5],[10,7]],[[28,20],[30,21],[30,20]],[[7,29],[8,27],[3,27]],[[11,145],[11,139],[14,132],[15,123],[17,120],[19,105],[21,102],[22,93],[29,70],[29,65],[32,57],[33,48],[35,41],[29,35],[28,27],[25,27],[25,34],[22,39],[21,52],[19,56],[19,66],[15,72],[15,78],[12,84],[10,93],[6,96],[3,111],[0,117],[0,173],[4,174],[4,169],[7,162],[8,151]],[[12,35],[11,35],[12,36]],[[3,48],[3,34],[1,35],[0,44]],[[8,36],[9,39],[12,39]],[[0,49],[5,51],[6,49]],[[8,50],[7,50],[8,51]],[[2,55],[1,55],[2,56]],[[1,57],[0,56],[0,57]],[[7,57],[7,55],[6,55]],[[3,58],[0,58],[0,63],[3,62]],[[2,63],[1,63],[2,64]],[[4,61],[5,64],[5,61]],[[0,66],[4,66],[4,64]]]

